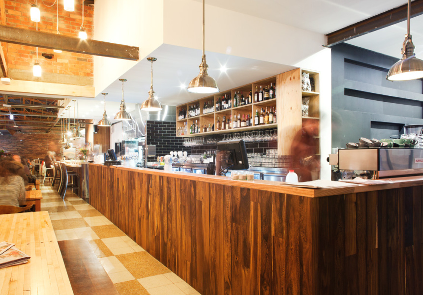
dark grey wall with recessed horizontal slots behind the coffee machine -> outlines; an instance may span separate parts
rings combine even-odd
[[[332,47],[332,147],[423,124],[423,82],[385,78],[397,60],[349,44]]]

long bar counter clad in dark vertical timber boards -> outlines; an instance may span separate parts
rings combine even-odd
[[[304,189],[89,165],[91,205],[202,295],[423,290],[423,177]]]

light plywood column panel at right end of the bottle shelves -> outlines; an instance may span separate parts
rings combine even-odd
[[[292,141],[302,128],[301,69],[276,76],[277,154],[291,155]]]

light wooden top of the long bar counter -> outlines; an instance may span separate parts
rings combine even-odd
[[[98,166],[106,167],[103,164],[91,163],[90,165],[98,165]],[[176,177],[181,179],[203,181],[208,183],[224,184],[224,185],[251,188],[251,189],[260,189],[260,190],[266,190],[266,191],[275,192],[275,193],[300,195],[300,196],[310,197],[310,198],[352,194],[352,193],[362,193],[362,192],[370,192],[370,191],[377,191],[377,190],[423,185],[423,176],[413,176],[413,177],[391,178],[391,180],[394,183],[388,183],[388,184],[376,184],[376,185],[359,184],[354,187],[313,189],[313,188],[301,188],[301,187],[292,187],[292,186],[282,185],[280,184],[279,181],[234,180],[234,179],[231,179],[231,177],[225,177],[225,176],[193,174],[193,173],[186,173],[186,172],[179,172],[179,171],[169,172],[169,171],[150,169],[150,168],[126,167],[126,166],[107,166],[107,167],[110,167],[112,169],[120,169],[120,170],[133,171],[133,172],[143,172],[150,175],[163,175],[167,177]]]

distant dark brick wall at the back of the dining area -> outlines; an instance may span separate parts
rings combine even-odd
[[[0,135],[0,149],[8,153],[18,154],[27,158],[43,159],[48,150],[62,155],[63,145],[59,145],[60,133],[15,133],[14,135]],[[77,149],[85,144],[85,138],[72,141]]]

